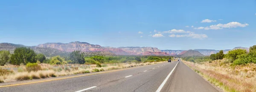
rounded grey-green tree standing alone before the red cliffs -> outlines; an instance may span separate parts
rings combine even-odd
[[[73,64],[84,64],[84,54],[81,53],[81,51],[73,51],[70,53],[70,60],[73,62]]]

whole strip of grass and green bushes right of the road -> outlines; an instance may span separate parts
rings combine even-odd
[[[205,57],[186,57],[183,62],[225,92],[256,92],[256,45]]]

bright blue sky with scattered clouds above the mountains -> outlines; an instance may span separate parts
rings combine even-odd
[[[4,0],[0,42],[169,50],[256,45],[256,0]]]

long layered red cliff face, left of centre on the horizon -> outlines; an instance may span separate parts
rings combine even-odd
[[[57,50],[72,52],[81,50],[82,52],[109,51],[116,55],[143,55],[144,52],[161,52],[156,47],[102,47],[100,45],[92,45],[87,42],[70,42],[70,43],[45,43],[38,47],[50,47]],[[156,53],[160,54],[160,53]]]

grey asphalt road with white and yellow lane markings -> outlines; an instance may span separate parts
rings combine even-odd
[[[181,61],[56,81],[3,85],[9,84],[0,84],[0,92],[218,92]]]

